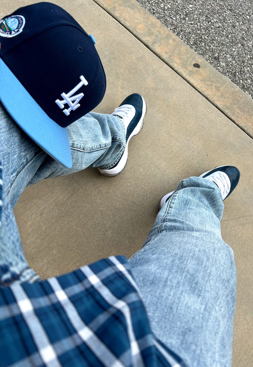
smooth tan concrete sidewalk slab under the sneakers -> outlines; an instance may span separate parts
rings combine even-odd
[[[33,2],[22,0],[19,6]],[[88,168],[24,191],[15,216],[29,264],[50,277],[109,255],[130,257],[146,239],[159,199],[180,179],[221,164],[237,166],[241,181],[225,201],[221,226],[238,271],[233,363],[253,365],[252,138],[94,1],[54,2],[97,40],[107,76],[97,112],[111,113],[128,94],[139,92],[148,113],[118,177]],[[0,16],[16,7],[4,0]]]

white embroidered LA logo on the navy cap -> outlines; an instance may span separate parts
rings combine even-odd
[[[76,93],[83,85],[84,86],[88,85],[88,82],[84,78],[83,75],[80,76],[80,80],[81,80],[80,83],[78,83],[78,85],[75,86],[75,88],[73,88],[70,92],[68,92],[67,94],[64,92],[61,93],[61,97],[63,97],[61,101],[60,99],[56,99],[55,101],[55,103],[57,103],[57,105],[61,109],[64,108],[65,103],[68,103],[69,108],[68,109],[65,108],[65,110],[63,110],[66,116],[69,115],[70,111],[75,111],[78,107],[80,107],[79,102],[80,102],[80,99],[83,98],[84,94],[83,93],[79,93],[76,95],[73,95],[73,94]]]

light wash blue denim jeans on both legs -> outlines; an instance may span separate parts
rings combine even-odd
[[[84,116],[69,127],[69,137],[70,170],[31,141],[0,104],[2,287],[39,280],[24,258],[12,211],[24,188],[88,166],[110,168],[125,147],[121,120],[111,115]],[[233,251],[220,234],[222,212],[215,183],[198,177],[181,181],[143,248],[129,260],[152,330],[190,367],[231,366],[236,270]]]

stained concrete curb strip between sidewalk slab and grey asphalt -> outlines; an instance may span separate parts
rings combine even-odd
[[[135,0],[93,0],[253,138],[253,99]]]

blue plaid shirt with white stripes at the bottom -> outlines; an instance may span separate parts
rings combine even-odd
[[[1,219],[0,169],[0,219]],[[173,366],[124,256],[0,288],[0,366]]]

